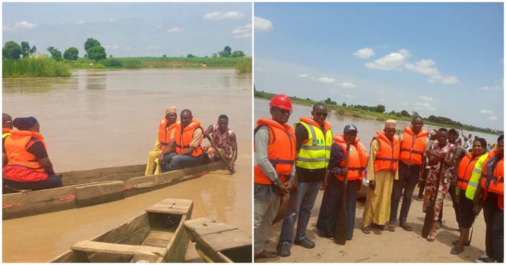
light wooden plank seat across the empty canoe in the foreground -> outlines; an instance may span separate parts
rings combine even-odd
[[[154,258],[164,257],[167,250],[162,247],[112,244],[97,241],[80,241],[70,247],[72,250],[123,255],[142,255]]]

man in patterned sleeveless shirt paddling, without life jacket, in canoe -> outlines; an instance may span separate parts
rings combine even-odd
[[[210,125],[207,130],[204,131],[204,137],[207,137],[207,135],[211,136],[214,144],[218,147],[220,156],[224,155],[225,158],[227,158],[227,161],[230,163],[231,172],[233,172],[234,163],[237,160],[237,140],[235,138],[234,131],[228,128],[227,115],[220,115],[220,117],[218,117],[218,123]],[[205,153],[207,153],[211,162],[215,162],[217,160],[215,156],[215,148],[210,145],[202,145],[202,149]]]

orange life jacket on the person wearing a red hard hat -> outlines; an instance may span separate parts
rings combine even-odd
[[[276,169],[281,182],[287,180],[287,176],[293,168],[293,163],[297,157],[296,141],[293,128],[288,124],[279,124],[271,119],[260,119],[257,121],[255,133],[262,127],[269,128],[269,146],[267,157],[272,166]],[[255,147],[256,150],[256,147]],[[254,182],[257,184],[272,184],[259,165],[255,166]]]

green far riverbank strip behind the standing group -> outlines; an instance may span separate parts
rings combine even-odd
[[[257,91],[255,89],[254,96],[256,98],[263,98],[263,99],[271,99],[275,94],[268,93],[264,91]],[[301,104],[301,105],[314,105],[317,102],[323,102],[327,105],[327,108],[329,110],[335,111],[339,115],[342,116],[348,116],[348,117],[354,117],[359,119],[368,119],[368,120],[376,120],[376,121],[386,121],[388,119],[394,119],[398,121],[405,121],[405,122],[411,122],[412,115],[409,115],[407,111],[401,111],[400,113],[396,112],[390,112],[390,113],[384,113],[385,109],[383,111],[377,110],[378,105],[376,107],[368,107],[363,105],[346,105],[345,102],[343,102],[342,105],[338,105],[335,103],[335,101],[332,101],[330,98],[327,98],[326,100],[320,100],[315,101],[310,98],[299,98],[297,96],[290,96],[290,99],[292,100],[292,103],[294,104]],[[330,103],[328,102],[330,101]],[[385,106],[383,106],[385,108]],[[374,111],[374,109],[376,109]],[[380,112],[382,111],[382,112]],[[419,116],[416,112],[413,113],[414,115]],[[468,131],[476,131],[476,132],[483,132],[483,133],[490,133],[490,134],[502,134],[502,131],[495,131],[489,128],[480,128],[472,125],[462,124],[460,122],[452,121],[449,118],[445,117],[436,117],[434,115],[429,116],[428,118],[424,118],[424,123],[427,125],[437,126],[437,127],[445,127],[445,128],[455,128],[455,129],[462,129],[462,130],[468,130]]]

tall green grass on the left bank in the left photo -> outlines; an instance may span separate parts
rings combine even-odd
[[[23,58],[2,60],[2,77],[69,77],[68,67],[63,62],[50,58]]]

